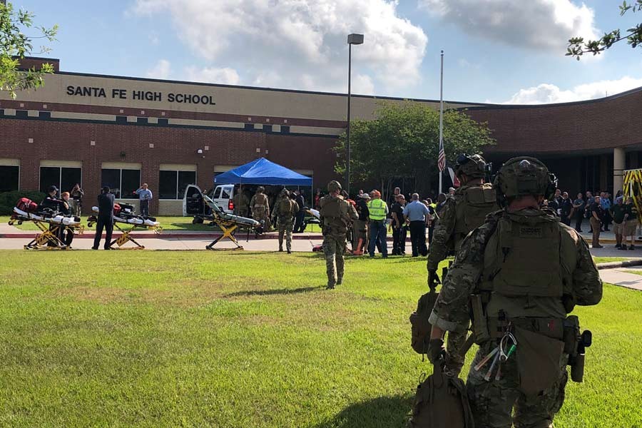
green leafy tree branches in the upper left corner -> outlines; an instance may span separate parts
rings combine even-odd
[[[28,11],[14,11],[14,6],[0,3],[0,91],[9,92],[11,98],[16,98],[16,91],[23,89],[36,89],[44,84],[43,76],[54,73],[50,63],[42,64],[41,68],[31,67],[29,70],[20,71],[20,60],[25,56],[45,54],[49,52],[46,46],[41,46],[40,51],[34,52],[34,40],[56,40],[58,26],[51,29],[34,27],[36,36],[28,36],[24,30],[34,26],[34,14]]]

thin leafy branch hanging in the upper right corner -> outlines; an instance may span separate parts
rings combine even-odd
[[[624,1],[620,6],[620,16],[623,16],[628,11],[632,11],[633,13],[642,11],[642,0],[636,0],[636,4],[626,4],[626,1]],[[589,40],[587,42],[584,42],[584,37],[569,39],[566,56],[574,56],[577,61],[579,61],[580,56],[583,54],[598,55],[602,51],[611,48],[611,46],[618,41],[625,39],[626,43],[630,44],[633,49],[637,46],[642,46],[642,23],[626,31],[627,34],[622,36],[620,29],[616,29],[604,34],[601,39]]]

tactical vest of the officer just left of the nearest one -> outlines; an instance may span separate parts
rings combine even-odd
[[[454,250],[459,250],[462,241],[471,230],[484,224],[486,215],[498,210],[493,186],[489,183],[462,189],[455,195]]]

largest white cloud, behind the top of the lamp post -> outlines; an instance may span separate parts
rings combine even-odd
[[[180,39],[205,61],[243,70],[244,83],[346,90],[347,34],[355,92],[418,86],[427,36],[394,0],[137,0],[138,16],[170,14]],[[267,72],[266,72],[267,70]]]

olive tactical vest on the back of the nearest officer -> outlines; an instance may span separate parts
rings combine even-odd
[[[571,272],[577,258],[575,243],[563,239],[565,233],[552,216],[504,213],[484,250],[481,290],[492,291],[499,298],[561,300],[572,288]],[[519,312],[519,308],[509,312]]]

